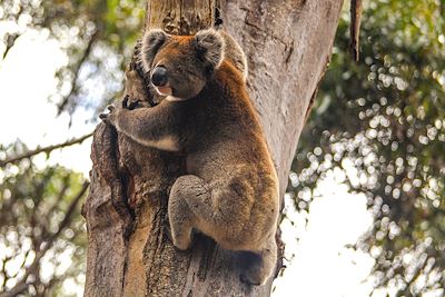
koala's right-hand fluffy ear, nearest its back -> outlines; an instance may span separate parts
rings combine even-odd
[[[217,69],[224,60],[224,38],[215,29],[198,31],[195,36],[198,56],[210,69]]]

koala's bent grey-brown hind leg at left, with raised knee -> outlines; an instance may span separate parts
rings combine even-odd
[[[199,219],[195,214],[210,216],[210,191],[199,177],[181,176],[175,181],[168,201],[168,218],[177,248],[184,250],[191,246],[191,231]]]

